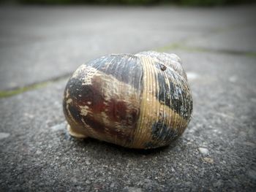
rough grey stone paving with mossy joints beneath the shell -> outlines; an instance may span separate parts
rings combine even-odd
[[[254,191],[255,12],[1,7],[0,191]],[[184,135],[147,151],[69,137],[69,74],[99,55],[141,50],[182,58],[195,106]]]

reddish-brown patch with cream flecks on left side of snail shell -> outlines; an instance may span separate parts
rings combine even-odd
[[[87,69],[83,67],[82,70]],[[131,133],[139,118],[140,91],[99,71],[91,76],[89,85],[81,82],[83,80],[73,82],[69,90],[75,89],[75,94],[69,91],[69,97],[64,99],[69,106],[64,107],[64,113],[66,117],[72,114],[71,124],[85,126],[86,135],[100,140],[115,141],[118,145],[131,142]],[[79,90],[83,93],[81,97],[78,97]],[[67,104],[70,99],[72,104]]]

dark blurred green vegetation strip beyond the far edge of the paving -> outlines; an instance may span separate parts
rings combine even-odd
[[[0,0],[2,1],[2,0]],[[13,1],[13,0],[12,0]],[[185,6],[220,6],[253,3],[254,0],[14,0],[21,4],[179,4]]]

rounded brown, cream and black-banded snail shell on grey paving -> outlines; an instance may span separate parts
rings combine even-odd
[[[149,149],[181,136],[192,118],[192,93],[175,54],[111,54],[72,74],[63,110],[72,137]]]

